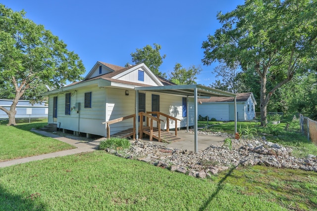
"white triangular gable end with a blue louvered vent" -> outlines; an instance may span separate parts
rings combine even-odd
[[[112,78],[153,86],[163,85],[159,81],[159,79],[150,71],[150,69],[147,68],[146,65],[143,63]]]

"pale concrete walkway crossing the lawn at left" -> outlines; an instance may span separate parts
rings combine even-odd
[[[52,137],[54,139],[60,140],[60,141],[65,142],[65,143],[68,143],[70,145],[75,146],[76,148],[69,149],[69,150],[63,150],[63,151],[59,151],[59,152],[43,154],[43,155],[27,157],[27,158],[20,158],[20,159],[14,159],[14,160],[10,160],[10,161],[0,162],[0,168],[1,167],[8,167],[8,166],[16,165],[16,164],[23,164],[23,163],[27,163],[30,161],[39,161],[39,160],[44,160],[47,158],[55,158],[55,157],[60,157],[60,156],[65,156],[65,155],[73,155],[73,154],[77,154],[77,153],[81,153],[81,152],[91,152],[91,151],[97,150],[100,141],[105,139],[105,138],[100,138],[100,139],[97,139],[97,140],[94,140],[91,142],[84,143],[84,142],[80,142],[78,140],[58,136],[58,135],[55,135],[55,134],[52,134],[52,133],[46,132],[46,131],[40,131],[40,130],[31,130],[31,131],[39,133],[39,134],[44,135],[44,136]]]

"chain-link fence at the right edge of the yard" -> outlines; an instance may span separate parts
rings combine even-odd
[[[302,133],[307,136],[308,140],[317,144],[317,122],[304,117],[302,114],[299,115],[299,118]]]

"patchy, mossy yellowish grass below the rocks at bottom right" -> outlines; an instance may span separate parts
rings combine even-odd
[[[239,186],[245,195],[261,195],[290,210],[317,210],[317,172],[254,166],[234,170],[225,183]]]

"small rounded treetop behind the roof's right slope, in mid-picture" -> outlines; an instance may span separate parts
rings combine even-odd
[[[196,84],[195,80],[201,71],[200,66],[192,65],[186,69],[181,64],[176,63],[173,72],[168,75],[169,80],[175,84]]]

